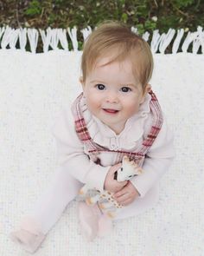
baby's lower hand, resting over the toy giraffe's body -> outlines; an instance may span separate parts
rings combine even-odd
[[[139,193],[136,187],[132,185],[131,181],[128,181],[127,185],[118,191],[118,193],[113,194],[113,198],[123,206],[131,204],[138,196]]]

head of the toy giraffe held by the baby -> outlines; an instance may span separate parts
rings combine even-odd
[[[138,167],[137,163],[130,161],[129,158],[124,155],[122,161],[122,167],[117,171],[117,181],[129,181],[132,177],[142,174],[143,169]]]

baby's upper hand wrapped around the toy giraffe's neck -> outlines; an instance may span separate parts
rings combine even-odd
[[[104,182],[105,190],[116,193],[127,184],[128,181],[118,182],[114,180],[114,174],[121,167],[121,165],[121,163],[118,163],[117,165],[112,166],[108,171]]]

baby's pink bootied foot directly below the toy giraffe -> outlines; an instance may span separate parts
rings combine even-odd
[[[92,241],[98,233],[99,218],[101,212],[98,205],[87,206],[85,202],[80,202],[78,207],[80,227],[83,236],[88,241]]]

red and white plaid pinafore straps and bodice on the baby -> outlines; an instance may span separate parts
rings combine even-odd
[[[163,125],[163,112],[157,101],[156,95],[153,91],[150,91],[151,101],[150,101],[150,111],[153,114],[153,121],[151,124],[150,131],[148,135],[143,138],[143,141],[140,145],[138,145],[137,149],[134,151],[126,151],[126,150],[110,150],[109,148],[105,148],[92,141],[91,136],[89,135],[88,129],[86,128],[86,122],[83,117],[82,111],[80,109],[80,101],[83,94],[80,94],[76,100],[73,102],[72,112],[75,121],[75,130],[80,139],[84,143],[84,146],[88,152],[89,158],[100,164],[99,154],[102,152],[110,152],[112,154],[116,154],[116,161],[114,164],[121,162],[124,155],[127,155],[130,160],[136,161],[137,164],[142,167],[145,155],[149,151],[151,145],[156,140],[156,136]]]

